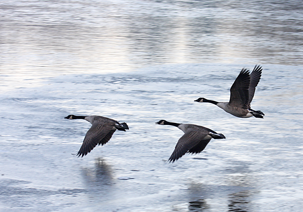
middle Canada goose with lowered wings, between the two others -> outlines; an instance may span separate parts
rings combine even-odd
[[[211,129],[195,124],[178,124],[165,120],[158,121],[156,124],[175,126],[184,132],[184,135],[179,139],[171,157],[168,159],[169,162],[178,160],[187,152],[192,154],[200,153],[204,150],[211,138],[225,138],[223,134],[218,134]]]

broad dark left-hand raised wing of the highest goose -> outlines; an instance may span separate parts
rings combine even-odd
[[[248,69],[242,69],[230,88],[229,104],[238,108],[248,109],[250,76]]]

